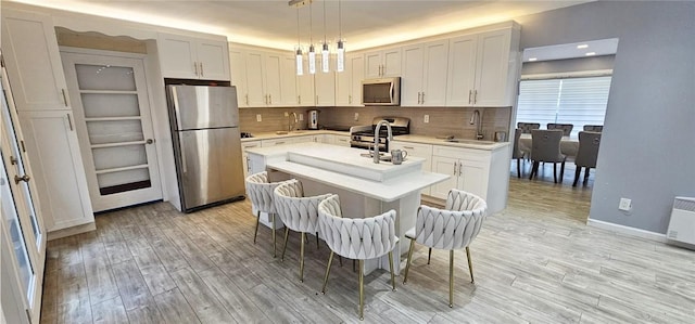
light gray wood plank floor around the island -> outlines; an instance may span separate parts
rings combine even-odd
[[[528,174],[528,173],[527,173]],[[552,177],[552,173],[549,173]],[[591,190],[510,179],[508,208],[489,216],[466,255],[419,247],[408,284],[365,277],[365,323],[695,323],[695,252],[587,228]],[[181,215],[168,204],[97,217],[92,233],[49,243],[42,323],[340,323],[357,319],[352,262],[313,236],[300,283],[299,235],[285,262],[248,202]],[[281,247],[281,244],[278,244]]]

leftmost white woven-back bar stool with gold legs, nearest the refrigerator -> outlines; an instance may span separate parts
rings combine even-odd
[[[282,182],[269,182],[268,172],[263,171],[247,177],[247,196],[251,199],[253,208],[256,210],[256,229],[253,232],[253,244],[256,243],[258,234],[258,223],[261,222],[261,212],[267,212],[273,222],[273,257],[277,257],[276,238],[275,238],[275,203],[273,200],[273,191]]]

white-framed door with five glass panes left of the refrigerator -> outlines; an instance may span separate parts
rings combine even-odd
[[[143,59],[61,54],[94,211],[162,199]]]

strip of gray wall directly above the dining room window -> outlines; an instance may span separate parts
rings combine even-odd
[[[616,55],[603,55],[585,59],[523,62],[523,65],[521,66],[521,76],[612,69],[615,59]]]

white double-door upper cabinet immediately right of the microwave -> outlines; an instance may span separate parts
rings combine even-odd
[[[401,104],[444,106],[446,103],[448,40],[403,48]]]

